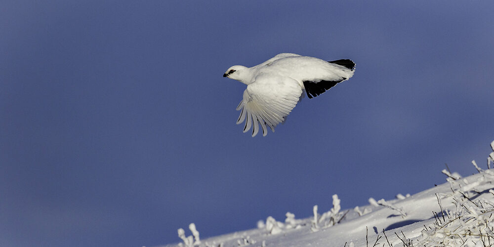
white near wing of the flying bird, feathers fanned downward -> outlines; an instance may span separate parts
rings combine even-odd
[[[246,120],[244,133],[252,127],[252,137],[259,132],[266,136],[268,125],[273,132],[276,125],[285,121],[285,117],[297,104],[302,87],[289,77],[258,76],[254,82],[247,85],[244,99],[237,110],[242,110],[237,124]]]

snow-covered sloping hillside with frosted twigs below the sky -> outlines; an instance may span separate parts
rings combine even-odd
[[[494,151],[494,141],[491,143]],[[494,152],[488,156],[491,168]],[[462,178],[446,169],[447,182],[392,201],[369,199],[370,205],[341,210],[333,207],[314,216],[284,222],[268,217],[257,229],[201,240],[194,224],[178,229],[182,242],[166,247],[373,247],[373,246],[494,246],[494,169]],[[198,229],[200,230],[200,229]]]

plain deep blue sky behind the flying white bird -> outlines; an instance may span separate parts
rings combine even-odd
[[[3,1],[0,246],[154,246],[485,166],[490,1]],[[275,133],[222,77],[281,52],[349,58]],[[187,230],[188,231],[188,230]],[[190,234],[190,233],[188,233]]]

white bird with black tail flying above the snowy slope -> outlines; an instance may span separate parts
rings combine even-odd
[[[247,68],[230,67],[223,77],[235,79],[247,85],[244,99],[237,107],[240,113],[237,124],[247,117],[244,133],[252,127],[252,137],[259,132],[266,136],[268,125],[274,132],[283,123],[304,96],[309,98],[324,93],[338,82],[353,76],[355,63],[350,59],[325,61],[315,57],[293,53],[280,53],[264,63]]]

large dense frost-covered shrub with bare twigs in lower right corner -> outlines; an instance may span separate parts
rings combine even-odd
[[[494,151],[494,141],[491,147]],[[492,156],[494,152],[487,159],[488,168],[493,161]],[[480,186],[494,181],[494,172],[481,169],[475,161],[472,164],[482,174],[473,182],[455,179],[452,174],[443,171],[448,176],[452,192],[441,197],[452,198],[454,210],[445,210],[443,217],[436,214],[436,222],[433,227],[422,230],[417,246],[494,246],[494,191],[476,191]],[[480,195],[482,197],[478,198]],[[439,197],[438,203],[442,208]]]

